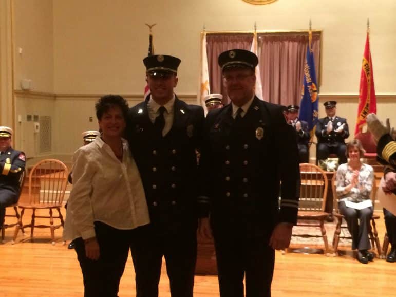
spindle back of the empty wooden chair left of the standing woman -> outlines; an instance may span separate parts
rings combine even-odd
[[[56,159],[45,159],[34,165],[29,174],[31,205],[61,205],[67,186],[66,165]]]

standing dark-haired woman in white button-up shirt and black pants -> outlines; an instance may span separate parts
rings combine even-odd
[[[73,156],[64,239],[75,239],[85,297],[116,297],[134,229],[149,223],[137,166],[121,136],[128,103],[106,95],[95,105],[102,136]]]

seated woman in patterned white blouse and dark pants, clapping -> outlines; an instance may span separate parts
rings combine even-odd
[[[347,144],[348,163],[338,166],[336,175],[336,192],[340,199],[338,208],[345,216],[349,233],[352,235],[352,250],[357,249],[357,259],[363,264],[372,261],[368,232],[373,207],[370,200],[374,170],[372,166],[361,162],[364,155],[362,143],[354,139]],[[350,203],[352,202],[352,203]],[[363,209],[355,209],[353,203],[367,203]]]

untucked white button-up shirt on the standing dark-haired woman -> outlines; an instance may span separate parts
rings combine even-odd
[[[73,188],[66,210],[65,240],[95,236],[94,221],[129,230],[149,223],[142,180],[128,143],[120,162],[100,137],[73,156]]]

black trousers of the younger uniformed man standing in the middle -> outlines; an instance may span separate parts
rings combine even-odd
[[[130,250],[135,266],[136,296],[157,297],[165,257],[172,297],[192,297],[197,261],[196,230],[158,235],[150,225],[139,227]]]

